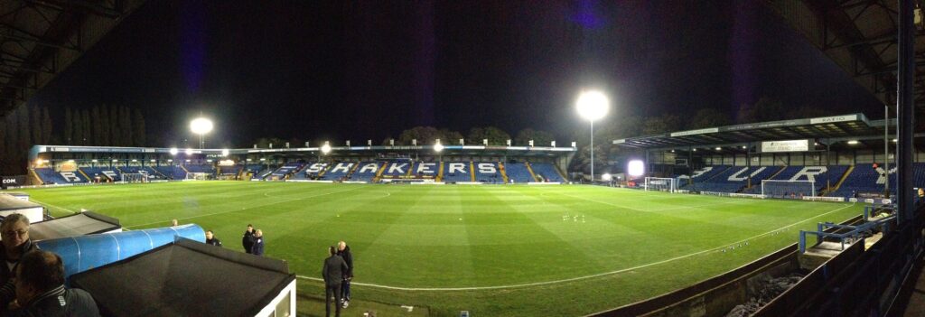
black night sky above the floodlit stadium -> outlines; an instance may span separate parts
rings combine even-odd
[[[768,96],[879,117],[760,3],[149,1],[30,102],[142,108],[155,146],[182,146],[202,112],[216,121],[208,147],[378,143],[414,126],[570,141],[586,87],[610,93],[610,116],[734,117]]]

